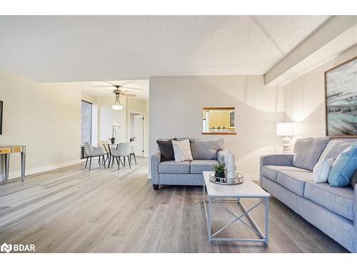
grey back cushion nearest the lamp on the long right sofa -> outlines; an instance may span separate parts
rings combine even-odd
[[[312,172],[329,140],[329,137],[297,139],[293,148],[293,166]]]

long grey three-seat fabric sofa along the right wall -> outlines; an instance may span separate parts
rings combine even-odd
[[[331,139],[323,146],[322,152],[317,153],[313,152],[314,147],[305,148],[305,159],[302,161],[336,159],[351,142],[356,140]],[[311,154],[315,155],[311,157]],[[295,162],[294,154],[261,157],[261,187],[350,252],[357,252],[357,185],[353,188],[316,184],[311,169],[316,163],[310,163],[308,169],[302,169],[296,167]],[[357,176],[357,172],[354,176]]]

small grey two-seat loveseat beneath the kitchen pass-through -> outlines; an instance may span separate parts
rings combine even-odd
[[[177,139],[182,140],[185,138]],[[164,140],[164,139],[161,139]],[[223,139],[190,139],[193,160],[163,161],[160,152],[151,156],[151,182],[159,185],[203,185],[203,171],[211,171],[213,164],[223,162]]]

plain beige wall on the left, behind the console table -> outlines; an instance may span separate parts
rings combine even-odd
[[[27,174],[79,162],[79,89],[0,71],[0,99],[4,101],[0,144],[26,144]],[[11,154],[10,177],[19,177],[19,162],[19,154]]]

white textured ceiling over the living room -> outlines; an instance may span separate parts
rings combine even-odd
[[[328,16],[0,16],[0,69],[36,81],[265,74]]]

